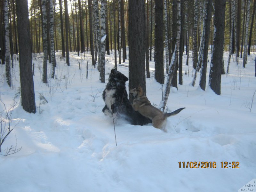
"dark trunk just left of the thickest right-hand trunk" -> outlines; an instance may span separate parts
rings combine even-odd
[[[202,90],[205,90],[206,84],[206,69],[208,62],[208,45],[209,45],[209,37],[210,37],[210,25],[212,18],[212,0],[207,0],[206,3],[206,16],[205,16],[205,36],[204,36],[204,46],[203,46],[203,60],[200,74],[200,82],[199,85]]]

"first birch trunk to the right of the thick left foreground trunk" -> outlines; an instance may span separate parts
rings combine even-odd
[[[46,0],[42,0],[42,27],[43,27],[43,82],[47,83],[47,14],[46,14]]]

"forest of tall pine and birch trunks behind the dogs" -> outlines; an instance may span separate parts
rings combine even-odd
[[[237,65],[237,58],[241,57],[245,68],[247,55],[255,51],[255,4],[255,0],[31,0],[27,6],[27,0],[1,0],[1,63],[6,65],[6,81],[11,87],[13,55],[19,54],[20,63],[28,65],[28,69],[20,67],[20,73],[22,68],[24,73],[30,71],[31,77],[24,77],[24,81],[32,82],[28,62],[32,57],[25,57],[29,52],[43,54],[42,81],[47,83],[47,63],[51,63],[54,78],[55,52],[62,53],[68,66],[69,52],[77,52],[78,56],[90,52],[92,65],[97,65],[104,83],[105,54],[114,52],[117,66],[125,62],[128,53],[129,76],[136,77],[133,81],[145,84],[145,72],[150,77],[148,61],[153,60],[157,82],[164,84],[165,73],[168,74],[168,95],[168,87],[182,84],[182,63],[188,65],[189,60],[193,60],[195,69],[193,86],[200,70],[200,87],[205,90],[210,61],[209,85],[220,94],[220,77],[228,73],[231,56]],[[227,68],[223,52],[229,52]],[[207,58],[208,53],[211,58]],[[186,61],[182,60],[183,54]],[[32,83],[24,86],[33,92]],[[21,85],[21,92],[24,89]]]

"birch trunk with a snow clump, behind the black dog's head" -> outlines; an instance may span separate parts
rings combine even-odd
[[[100,2],[100,82],[105,83],[105,49],[106,49],[106,7],[107,1],[101,0]]]

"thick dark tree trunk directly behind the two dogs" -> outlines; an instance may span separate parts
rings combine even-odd
[[[144,1],[129,1],[129,89],[139,84],[146,94],[145,78],[145,3]],[[129,96],[132,102],[133,98]]]

